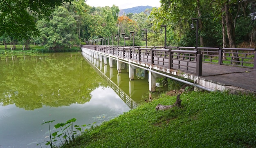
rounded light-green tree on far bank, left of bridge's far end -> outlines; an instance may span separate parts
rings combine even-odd
[[[79,42],[76,34],[76,20],[64,6],[59,6],[54,11],[49,22],[45,19],[39,20],[38,29],[41,32],[41,38],[45,42],[45,47],[49,49],[71,48]]]

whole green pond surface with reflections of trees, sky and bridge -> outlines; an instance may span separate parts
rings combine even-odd
[[[51,130],[72,118],[99,125],[148,96],[146,79],[130,82],[125,71],[89,63],[81,53],[1,57],[0,148],[40,148],[49,140],[45,121],[55,120]]]

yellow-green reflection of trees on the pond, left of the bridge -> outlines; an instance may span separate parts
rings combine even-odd
[[[7,58],[7,57],[6,57]],[[106,82],[81,53],[51,53],[1,58],[0,102],[34,110],[90,101],[90,93]]]

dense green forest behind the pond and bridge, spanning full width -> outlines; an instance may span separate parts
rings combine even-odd
[[[0,2],[0,43],[40,44],[49,50],[80,45],[86,40],[109,37],[107,42],[124,41],[148,46],[163,46],[166,25],[167,46],[238,47],[255,40],[256,23],[251,20],[255,0],[160,0],[161,7],[119,16],[119,7],[91,7],[84,0],[2,0]],[[151,13],[149,13],[151,12]],[[197,18],[198,20],[192,20]],[[119,36],[116,36],[119,35]],[[110,36],[117,37],[111,39]],[[109,44],[109,43],[108,43]],[[7,46],[6,46],[7,47]]]

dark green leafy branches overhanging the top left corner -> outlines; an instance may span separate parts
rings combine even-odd
[[[29,39],[38,35],[35,20],[47,18],[56,6],[72,0],[1,0],[0,36],[8,35],[11,40]]]

